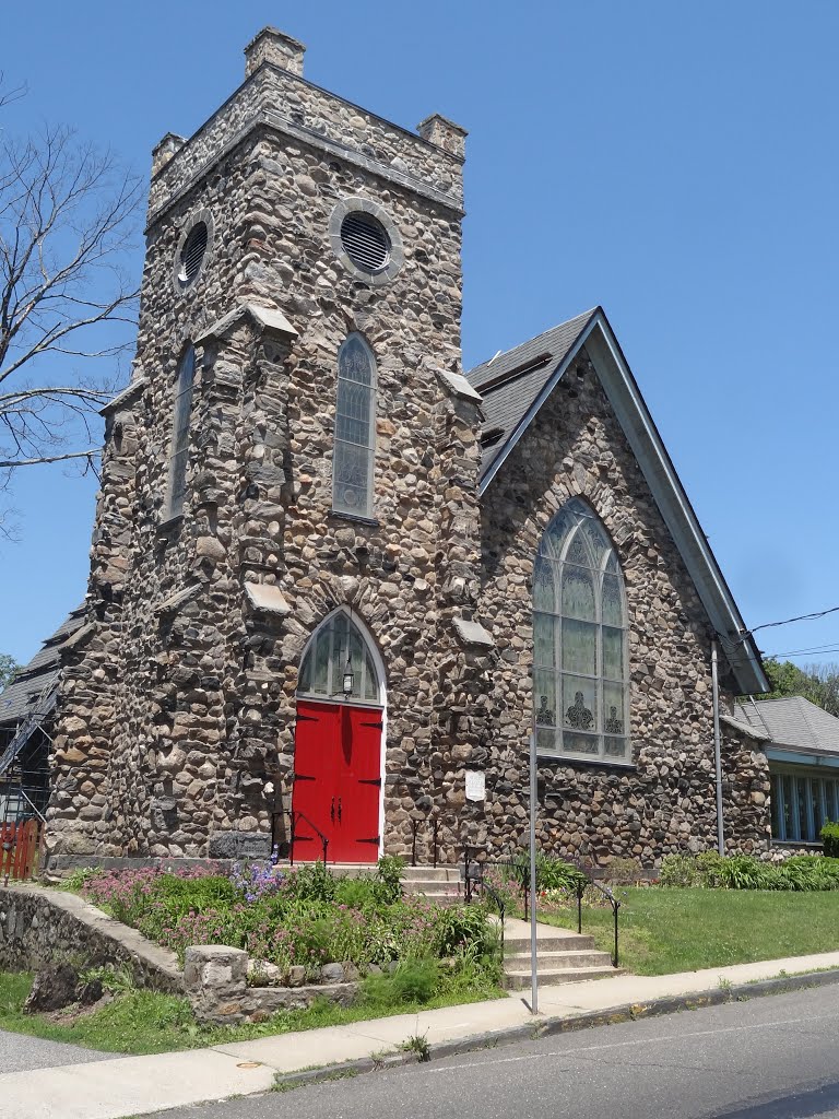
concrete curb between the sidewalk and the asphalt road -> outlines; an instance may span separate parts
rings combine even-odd
[[[512,1045],[516,1042],[538,1041],[556,1034],[576,1033],[579,1029],[591,1029],[595,1026],[612,1026],[622,1022],[634,1022],[638,1018],[663,1017],[667,1014],[678,1014],[680,1010],[698,1010],[706,1006],[722,1006],[725,1003],[746,1002],[767,995],[784,995],[808,987],[827,987],[839,984],[839,968],[829,971],[812,971],[800,976],[777,976],[773,979],[761,979],[757,982],[732,984],[730,987],[695,991],[689,995],[666,995],[662,998],[643,1003],[623,1003],[604,1010],[588,1010],[582,1014],[534,1018],[532,1022],[503,1029],[490,1029],[458,1041],[440,1042],[430,1046],[430,1061],[447,1056],[459,1056],[477,1050],[492,1049],[499,1045]],[[389,1053],[381,1060],[359,1057],[357,1061],[342,1061],[324,1065],[320,1069],[307,1069],[301,1072],[277,1073],[276,1085],[280,1091],[314,1084],[326,1080],[337,1080],[343,1076],[357,1076],[365,1072],[379,1072],[384,1069],[399,1068],[406,1064],[417,1064],[416,1053]]]

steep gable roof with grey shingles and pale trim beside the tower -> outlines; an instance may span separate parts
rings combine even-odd
[[[743,694],[769,690],[746,629],[696,513],[602,307],[578,314],[466,374],[486,416],[479,495],[483,496],[582,347],[591,358],[659,511],[719,636]]]

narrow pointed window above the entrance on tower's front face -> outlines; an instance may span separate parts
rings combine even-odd
[[[376,453],[376,360],[360,335],[350,335],[338,351],[332,508],[373,516],[373,466]]]

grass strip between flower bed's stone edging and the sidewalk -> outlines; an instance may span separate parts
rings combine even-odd
[[[266,1022],[243,1026],[202,1026],[192,1017],[186,998],[149,990],[129,990],[113,1002],[75,1021],[60,1023],[43,1014],[23,1014],[22,1005],[32,985],[32,975],[22,971],[0,971],[0,1029],[30,1034],[54,1042],[70,1042],[105,1053],[166,1053],[170,1050],[200,1049],[226,1042],[247,1041],[296,1029],[339,1026],[394,1014],[414,1014],[441,1006],[478,1003],[502,998],[506,991],[483,986],[455,989],[425,1003],[390,1003],[362,1000],[357,1006],[341,1008],[329,1003],[315,1004],[308,1010],[286,1010]]]

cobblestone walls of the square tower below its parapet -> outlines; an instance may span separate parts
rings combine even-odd
[[[365,149],[368,116],[347,117],[322,91],[311,94],[315,110],[324,130],[338,122],[343,141]],[[392,142],[400,135],[394,129]],[[407,149],[434,150],[416,138]],[[459,161],[446,161],[455,173]],[[405,263],[386,286],[346,272],[329,243],[337,201],[359,195],[385,207],[403,239]],[[213,242],[197,283],[179,293],[175,256],[196,214],[209,214]],[[460,236],[458,210],[267,126],[158,211],[141,379],[117,416],[121,450],[113,425],[105,453],[95,629],[70,657],[59,711],[50,857],[221,856],[242,837],[270,843],[291,796],[300,656],[339,603],[373,633],[387,669],[388,846],[407,850],[418,802],[456,809],[450,721],[433,713],[442,680],[471,656],[450,622],[478,586],[480,416],[439,375],[459,369]],[[167,524],[180,357],[246,301],[281,309],[298,337],[245,317],[197,347],[188,499]],[[373,524],[331,513],[336,358],[351,330],[378,361]],[[109,528],[117,515],[119,532]],[[246,606],[247,581],[279,585],[287,618]],[[113,686],[96,690],[101,677]]]

